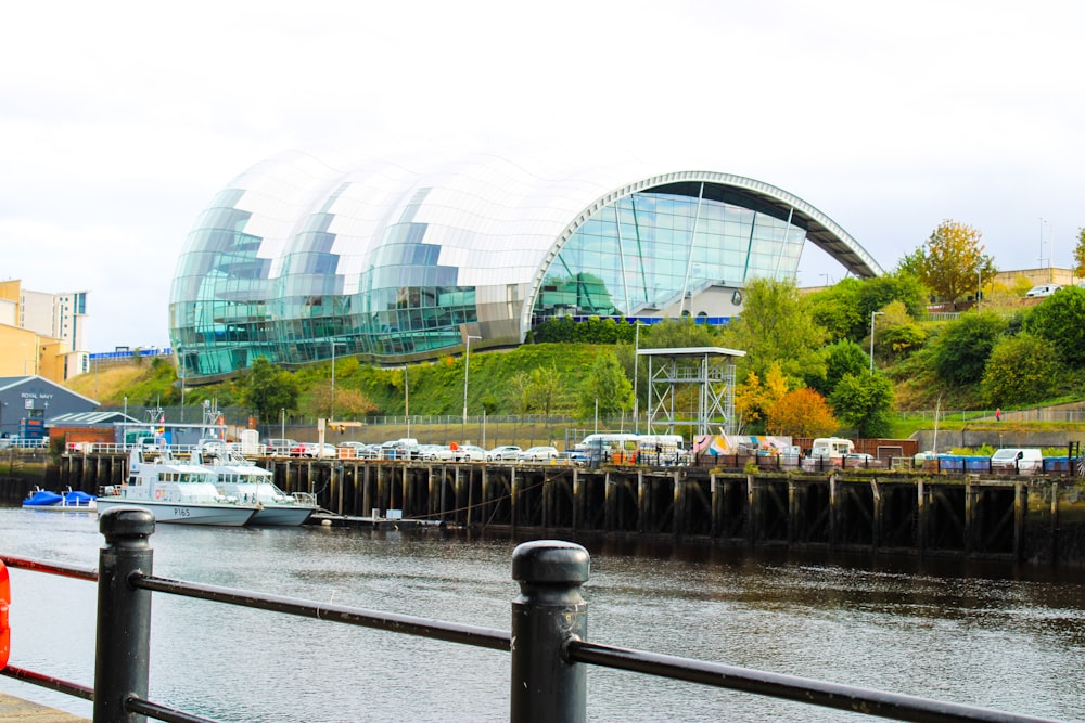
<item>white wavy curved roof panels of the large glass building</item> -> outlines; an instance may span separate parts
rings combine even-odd
[[[335,164],[340,166],[340,164]],[[425,223],[426,243],[442,247],[439,262],[458,266],[462,284],[536,281],[538,261],[590,215],[620,197],[658,186],[697,195],[700,182],[720,199],[791,219],[815,245],[857,276],[882,273],[873,258],[839,224],[805,201],[768,183],[714,171],[664,171],[622,159],[587,165],[583,159],[518,159],[475,153],[460,157],[413,157],[347,163],[340,169],[310,154],[288,152],[235,178],[232,206],[250,211],[245,233],[260,240],[257,257],[270,260],[268,276],[290,274],[292,255],[311,253],[306,230],[324,219],[334,240],[328,254],[334,273],[354,293],[371,253],[390,225]],[[481,251],[481,253],[476,253]],[[525,251],[538,251],[531,258]],[[470,256],[470,262],[465,262]],[[509,274],[512,274],[510,277]]]

